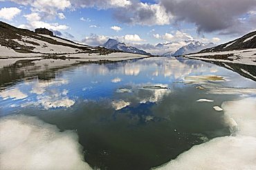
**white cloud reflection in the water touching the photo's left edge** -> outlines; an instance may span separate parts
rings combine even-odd
[[[3,98],[3,100],[6,100],[8,98],[12,98],[12,100],[19,100],[27,98],[28,95],[22,93],[19,89],[7,89],[0,92],[0,96]]]

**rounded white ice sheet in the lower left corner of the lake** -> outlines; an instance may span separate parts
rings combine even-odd
[[[1,169],[91,169],[73,131],[63,131],[34,117],[0,120]]]

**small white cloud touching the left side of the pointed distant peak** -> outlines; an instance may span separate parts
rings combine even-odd
[[[82,42],[87,45],[97,46],[105,43],[108,39],[109,38],[104,35],[91,34],[90,36],[86,36]]]

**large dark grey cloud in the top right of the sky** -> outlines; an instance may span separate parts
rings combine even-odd
[[[176,21],[187,21],[196,25],[198,32],[228,30],[239,25],[239,16],[256,8],[255,0],[161,0]]]

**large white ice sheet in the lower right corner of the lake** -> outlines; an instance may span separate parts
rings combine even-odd
[[[194,146],[158,169],[256,169],[256,98],[226,102],[222,107],[237,122],[237,136],[215,138]],[[226,123],[234,125],[232,119]]]

